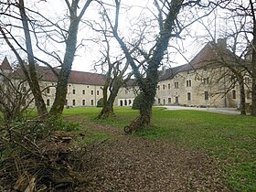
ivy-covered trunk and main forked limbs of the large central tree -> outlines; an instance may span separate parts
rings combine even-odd
[[[165,50],[168,47],[169,39],[171,37],[176,37],[176,35],[174,35],[174,28],[176,27],[175,22],[182,3],[183,0],[172,1],[165,20],[162,19],[161,13],[159,13],[159,37],[156,38],[153,54],[148,55],[148,58],[150,59],[147,61],[148,67],[145,69],[145,77],[141,75],[138,66],[135,64],[133,57],[123,42],[123,39],[118,36],[117,24],[114,27],[115,30],[113,35],[123,49],[126,59],[130,62],[140,91],[143,94],[143,102],[141,103],[140,107],[140,116],[135,120],[136,129],[144,129],[151,122],[152,106],[155,102],[156,85],[158,82],[158,68],[160,67],[160,62],[164,57]],[[157,2],[155,2],[155,4],[157,4]]]

